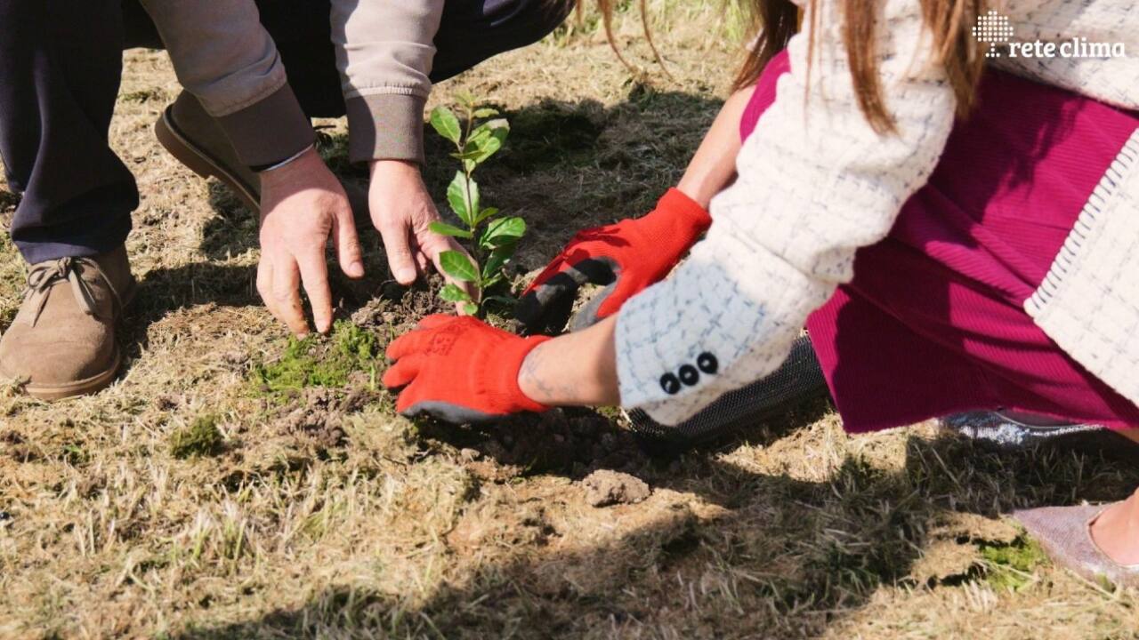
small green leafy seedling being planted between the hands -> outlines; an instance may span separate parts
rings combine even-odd
[[[434,222],[431,229],[458,238],[467,247],[469,255],[458,251],[440,255],[443,271],[453,280],[443,287],[440,297],[461,305],[466,313],[474,315],[487,301],[513,302],[508,296],[486,296],[485,293],[506,280],[505,268],[518,240],[526,233],[526,222],[483,206],[478,183],[473,178],[475,169],[502,148],[510,132],[509,123],[497,117],[498,110],[480,106],[470,96],[458,98],[462,121],[451,109],[436,107],[431,114],[431,124],[454,145],[451,157],[461,165],[446,188],[446,202],[462,225]]]

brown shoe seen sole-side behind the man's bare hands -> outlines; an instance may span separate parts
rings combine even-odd
[[[182,91],[154,125],[158,142],[202,178],[216,178],[249,211],[261,213],[261,178],[241,164],[224,130],[189,91]],[[285,158],[281,158],[285,159]],[[357,220],[368,219],[368,192],[352,181],[344,191]]]

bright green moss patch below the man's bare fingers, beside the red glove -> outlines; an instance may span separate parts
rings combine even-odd
[[[355,371],[375,371],[376,336],[341,320],[331,336],[289,338],[276,362],[256,364],[254,381],[267,394],[296,392],[305,387],[344,387]]]

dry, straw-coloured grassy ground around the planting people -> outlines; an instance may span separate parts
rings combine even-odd
[[[652,5],[673,79],[634,79],[587,23],[436,92],[473,91],[514,123],[482,182],[531,222],[526,270],[579,228],[646,211],[726,95],[730,23],[696,0]],[[618,40],[652,69],[638,31],[624,19]],[[674,458],[591,411],[483,432],[394,417],[374,354],[432,296],[385,282],[369,233],[372,277],[338,287],[346,323],[290,346],[254,295],[255,222],[154,141],[178,91],[165,56],[126,60],[112,137],[144,197],[129,367],[62,404],[0,389],[0,637],[1139,633],[1134,593],[1052,567],[1001,516],[1121,498],[1134,466],[997,456],[928,425],[847,437],[826,405]],[[359,175],[327,124],[326,151]],[[431,151],[442,194],[450,161]],[[0,238],[0,329],[23,277]],[[593,507],[644,497],[605,474],[587,486],[597,469],[652,493]]]

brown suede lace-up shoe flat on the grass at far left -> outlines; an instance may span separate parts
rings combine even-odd
[[[24,303],[0,338],[0,379],[41,400],[95,393],[115,379],[115,325],[134,296],[126,249],[33,264]]]

